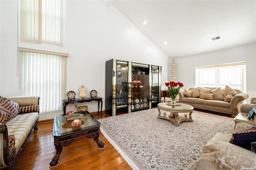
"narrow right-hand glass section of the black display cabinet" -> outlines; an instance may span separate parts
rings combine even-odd
[[[158,104],[161,102],[161,66],[151,65],[151,103]]]

